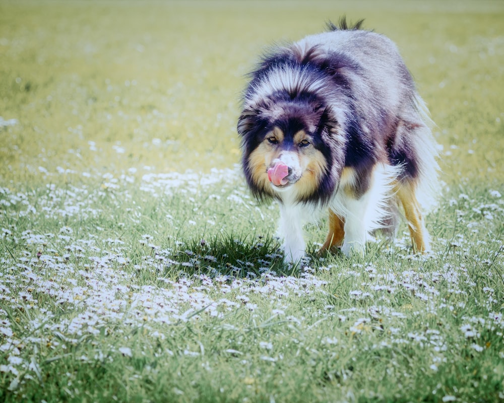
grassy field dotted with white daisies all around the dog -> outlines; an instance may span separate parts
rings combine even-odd
[[[244,74],[346,14],[429,105],[433,253],[283,265]],[[504,3],[0,2],[0,401],[504,399]]]

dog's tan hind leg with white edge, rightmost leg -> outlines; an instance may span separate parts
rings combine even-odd
[[[402,180],[396,185],[397,196],[401,200],[404,208],[406,220],[411,234],[411,242],[415,252],[424,253],[430,251],[429,233],[420,211],[420,204],[416,197],[416,183],[408,180]]]

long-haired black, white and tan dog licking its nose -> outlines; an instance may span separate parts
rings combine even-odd
[[[302,226],[329,209],[321,251],[362,253],[402,205],[413,249],[428,251],[422,210],[437,190],[427,108],[387,37],[329,24],[329,32],[263,56],[238,119],[242,165],[259,199],[280,202],[287,262],[305,253]]]

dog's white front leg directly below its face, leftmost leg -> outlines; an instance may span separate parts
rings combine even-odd
[[[284,261],[297,263],[304,257],[302,212],[296,206],[280,205],[279,235],[283,238]]]

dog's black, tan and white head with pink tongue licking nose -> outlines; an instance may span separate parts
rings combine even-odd
[[[338,181],[335,150],[338,123],[315,99],[281,94],[245,105],[238,119],[242,164],[259,198],[324,203]]]

